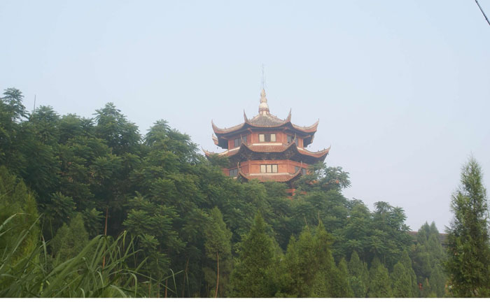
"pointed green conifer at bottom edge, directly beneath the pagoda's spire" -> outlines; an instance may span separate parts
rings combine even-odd
[[[262,215],[255,215],[250,232],[241,243],[239,261],[232,271],[230,282],[232,296],[272,297],[274,277],[274,248],[272,239],[266,233]]]

